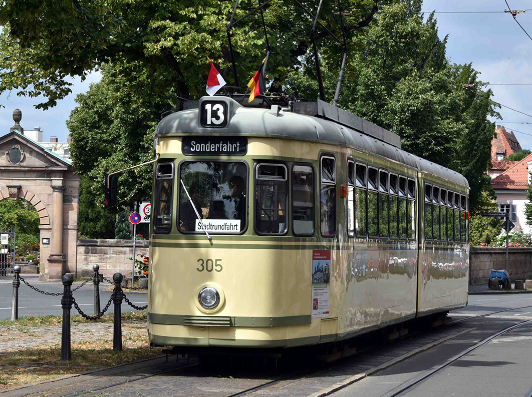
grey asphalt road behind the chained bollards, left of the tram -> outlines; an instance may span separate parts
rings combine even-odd
[[[36,286],[38,289],[58,293],[63,291],[63,284],[58,282],[40,282],[37,276],[34,275],[22,275],[24,280],[30,284]],[[0,277],[0,320],[11,317],[11,301],[13,297],[13,285],[12,277]],[[72,285],[75,288],[80,283],[76,282]],[[110,284],[101,283],[99,285],[100,290],[100,305],[103,309],[107,301],[111,297],[112,291],[106,291],[105,289]],[[74,299],[78,303],[81,310],[88,315],[94,314],[94,285],[92,282],[88,282],[82,286],[79,290],[74,292]],[[145,306],[147,303],[148,294],[145,292],[127,292],[129,300],[137,306]],[[113,304],[109,307],[107,312],[113,312]],[[132,311],[130,306],[125,302],[122,303],[122,311]],[[55,315],[60,316],[63,313],[61,309],[61,296],[53,297],[44,295],[31,290],[27,285],[21,283],[19,288],[19,317],[28,316],[47,316]],[[71,314],[77,314],[76,309],[72,308]]]

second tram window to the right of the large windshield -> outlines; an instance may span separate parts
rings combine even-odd
[[[295,235],[314,234],[314,170],[311,165],[292,168],[292,230]]]

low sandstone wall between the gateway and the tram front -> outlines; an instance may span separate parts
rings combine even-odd
[[[80,239],[77,245],[76,278],[85,278],[93,274],[93,265],[98,264],[100,273],[111,277],[120,272],[131,276],[133,240]],[[137,240],[136,255],[148,255],[148,241]],[[140,257],[137,256],[137,259]]]

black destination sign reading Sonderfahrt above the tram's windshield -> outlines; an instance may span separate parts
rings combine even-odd
[[[185,156],[244,156],[247,138],[242,137],[185,137],[181,142]]]

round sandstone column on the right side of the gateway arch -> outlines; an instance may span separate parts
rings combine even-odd
[[[48,279],[59,280],[65,273],[63,269],[63,179],[52,178],[52,238],[50,239],[50,256],[48,257]]]

